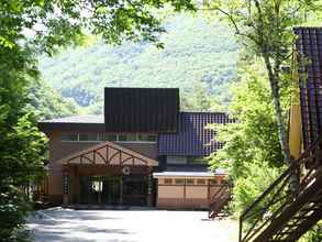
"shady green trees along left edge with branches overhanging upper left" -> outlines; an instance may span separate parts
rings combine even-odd
[[[0,240],[16,237],[27,210],[20,188],[43,169],[45,139],[27,108],[27,89],[38,77],[37,59],[81,44],[85,33],[107,43],[157,42],[158,9],[193,10],[190,0],[10,0],[0,2]]]

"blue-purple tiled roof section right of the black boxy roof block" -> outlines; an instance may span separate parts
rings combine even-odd
[[[214,131],[204,127],[232,122],[222,112],[180,112],[178,121],[177,133],[158,135],[158,155],[208,156],[222,143],[214,140]]]

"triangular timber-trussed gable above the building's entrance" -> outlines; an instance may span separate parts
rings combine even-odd
[[[157,166],[158,162],[113,142],[103,142],[58,161],[60,164]]]

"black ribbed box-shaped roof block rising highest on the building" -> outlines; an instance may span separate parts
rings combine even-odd
[[[176,132],[178,88],[106,88],[108,132]]]

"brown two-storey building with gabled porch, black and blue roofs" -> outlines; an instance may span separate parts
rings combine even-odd
[[[224,185],[207,157],[222,146],[208,123],[180,112],[178,89],[106,88],[104,116],[40,122],[49,139],[48,199],[65,205],[208,208]]]

